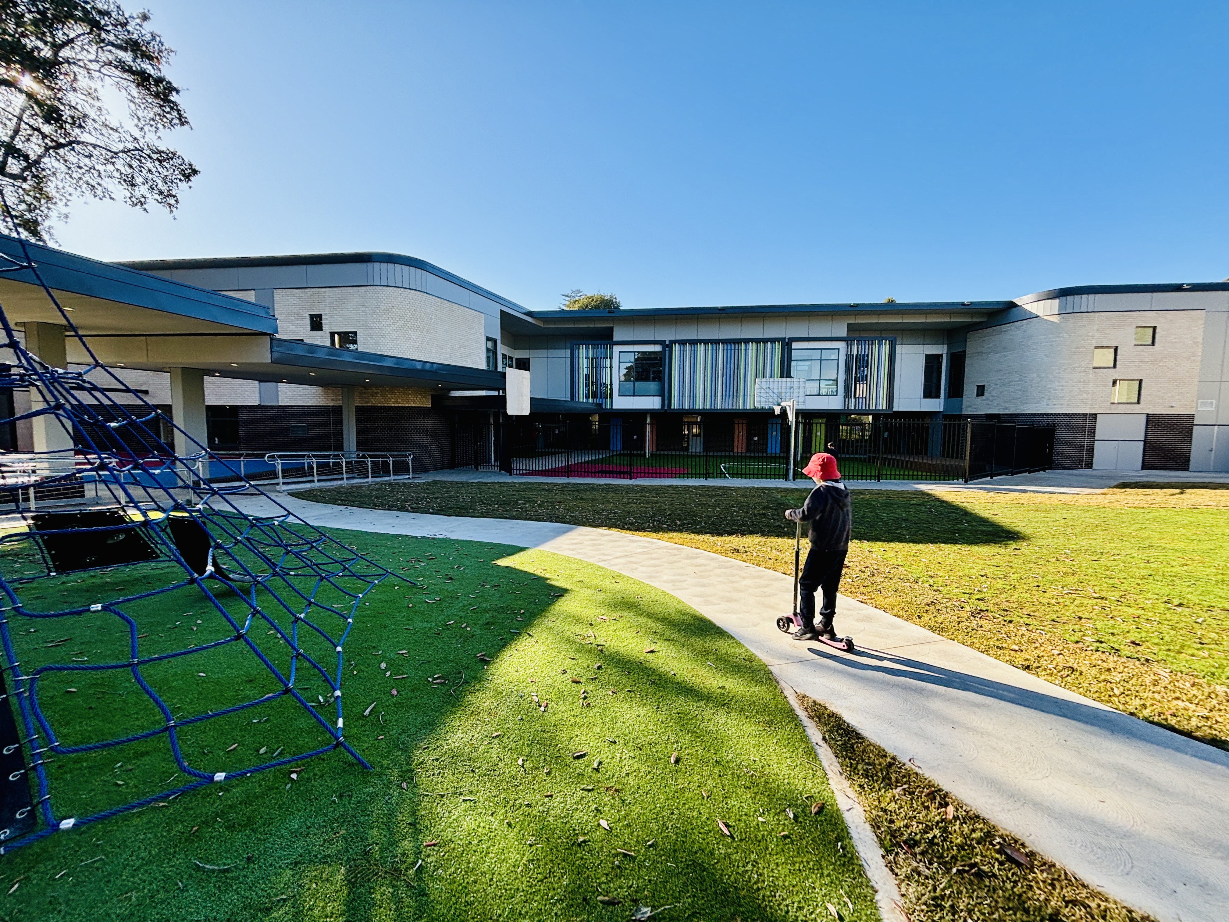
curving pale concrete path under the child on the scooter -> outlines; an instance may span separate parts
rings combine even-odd
[[[263,500],[240,502],[258,511]],[[857,654],[794,642],[774,626],[791,580],[705,551],[549,522],[284,502],[315,525],[536,547],[649,583],[1093,886],[1161,922],[1229,918],[1229,752],[843,596],[837,627]]]

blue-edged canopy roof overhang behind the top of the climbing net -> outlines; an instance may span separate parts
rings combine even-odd
[[[26,246],[48,288],[86,336],[278,332],[278,321],[263,305],[38,243]],[[0,253],[25,262],[15,237],[0,235]],[[64,323],[29,269],[0,274],[0,305],[14,323]]]

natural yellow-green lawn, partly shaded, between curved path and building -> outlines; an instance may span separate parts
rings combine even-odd
[[[422,482],[307,499],[617,529],[790,573],[796,488]],[[1229,747],[1229,491],[854,491],[842,591]]]

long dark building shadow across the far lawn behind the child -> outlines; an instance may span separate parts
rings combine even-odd
[[[364,509],[524,519],[640,532],[793,538],[784,510],[806,487],[640,487],[425,481],[304,491],[301,499]],[[1024,535],[922,491],[853,491],[854,538],[1000,545]]]

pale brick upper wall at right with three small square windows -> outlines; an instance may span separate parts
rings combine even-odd
[[[1134,345],[1137,326],[1156,327],[1156,344]],[[1057,313],[973,331],[964,412],[1193,413],[1202,336],[1202,310]],[[1093,368],[1096,345],[1118,347],[1117,368]],[[1116,377],[1143,381],[1138,404],[1110,403]]]

